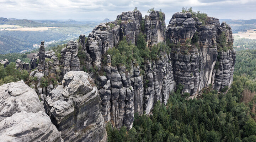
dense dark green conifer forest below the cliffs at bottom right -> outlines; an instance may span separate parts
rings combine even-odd
[[[166,106],[156,103],[149,117],[135,114],[128,132],[125,127],[112,129],[109,123],[108,141],[255,142],[256,97],[248,98],[242,93],[244,83],[234,80],[227,94],[206,88],[193,100],[181,96],[179,85]]]

